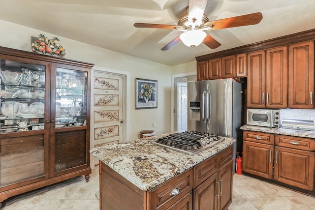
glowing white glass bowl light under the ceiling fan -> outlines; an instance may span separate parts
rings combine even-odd
[[[182,33],[179,38],[186,46],[194,48],[201,44],[206,36],[207,33],[202,30],[189,30]]]

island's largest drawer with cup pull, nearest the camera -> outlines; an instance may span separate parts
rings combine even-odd
[[[189,193],[193,185],[192,175],[193,169],[191,168],[150,190],[150,209],[159,209],[161,205],[169,207]],[[179,189],[178,194],[171,195],[177,189]]]

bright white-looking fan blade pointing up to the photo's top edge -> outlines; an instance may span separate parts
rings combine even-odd
[[[208,0],[189,0],[188,6],[188,22],[192,23],[192,19],[195,18],[197,25],[201,24],[202,16],[205,11]],[[200,21],[200,23],[198,23]]]

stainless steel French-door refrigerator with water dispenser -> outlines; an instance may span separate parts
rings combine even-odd
[[[237,140],[242,147],[242,84],[233,79],[191,82],[188,86],[188,130]],[[238,149],[242,150],[242,148]]]

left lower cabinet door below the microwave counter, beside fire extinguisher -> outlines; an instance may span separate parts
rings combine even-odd
[[[273,151],[272,145],[243,141],[243,171],[271,179]]]

